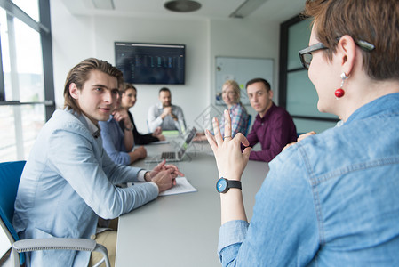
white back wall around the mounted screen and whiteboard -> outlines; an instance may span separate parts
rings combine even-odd
[[[89,57],[115,64],[115,41],[186,44],[186,85],[168,85],[172,102],[183,109],[188,125],[213,103],[215,56],[272,58],[275,99],[278,82],[279,25],[251,20],[179,20],[116,16],[73,16],[60,0],[51,1],[56,103],[63,105],[68,70]],[[137,85],[132,108],[140,132],[147,131],[148,106],[162,85]],[[247,108],[252,111],[251,107]],[[253,120],[252,120],[253,122]]]

